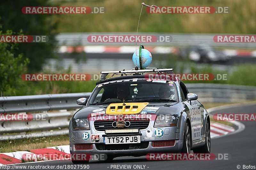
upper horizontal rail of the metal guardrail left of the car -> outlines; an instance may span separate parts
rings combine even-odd
[[[76,100],[91,93],[67,93],[0,97],[0,113],[50,111],[81,108]]]

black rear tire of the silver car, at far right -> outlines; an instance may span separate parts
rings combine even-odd
[[[205,125],[205,144],[199,148],[193,149],[194,153],[210,153],[211,152],[211,134],[210,124],[206,121]]]

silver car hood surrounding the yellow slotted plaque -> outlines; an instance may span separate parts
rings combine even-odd
[[[92,114],[104,115],[106,114],[106,109],[108,105],[109,104],[85,106],[74,114],[72,121],[75,119],[91,117]],[[156,107],[155,109],[153,109],[155,111],[152,111],[152,110],[149,110],[150,112],[148,112],[148,110],[144,111],[147,108],[152,109],[150,107]],[[151,114],[151,115],[167,114],[167,115],[173,115],[173,116],[179,117],[182,114],[183,110],[184,110],[183,103],[162,103],[161,102],[161,103],[149,103],[142,111],[147,112],[146,114]],[[136,113],[134,115],[141,115],[141,112]],[[145,114],[145,113],[142,113],[142,114]],[[126,115],[126,114],[123,114],[123,115]]]

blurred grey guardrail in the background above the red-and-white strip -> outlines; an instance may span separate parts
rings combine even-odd
[[[135,45],[135,43],[91,43],[87,41],[89,35],[136,35],[136,32],[74,32],[74,33],[60,33],[55,39],[58,45],[67,46],[88,46],[88,45],[102,45],[102,46],[125,46]],[[199,34],[199,33],[156,33],[156,32],[138,32],[138,35],[156,35],[156,36],[172,36],[172,42],[152,42],[143,43],[144,46],[194,46],[198,44],[208,44],[210,46],[221,47],[242,47],[255,48],[256,43],[216,43],[213,41],[215,35],[231,35],[231,34]],[[248,35],[248,34],[247,34]]]

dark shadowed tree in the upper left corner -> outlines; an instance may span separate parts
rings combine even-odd
[[[0,2],[0,17],[3,32],[12,30],[24,35],[46,35],[49,41],[46,43],[21,43],[14,53],[18,57],[20,53],[28,57],[30,72],[40,71],[46,59],[54,58],[55,28],[56,22],[52,21],[51,14],[23,14],[24,6],[51,6],[48,0],[8,0]]]

